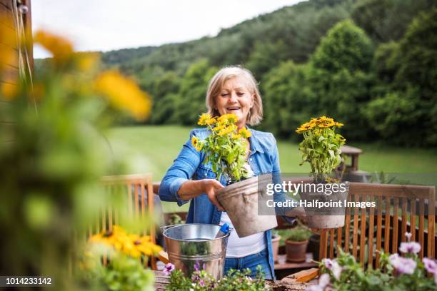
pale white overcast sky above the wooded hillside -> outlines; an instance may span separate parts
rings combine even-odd
[[[32,29],[60,34],[76,51],[159,46],[215,36],[302,0],[35,0]],[[35,58],[50,56],[36,45]]]

